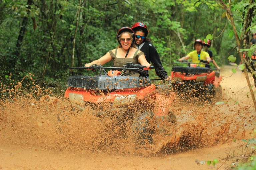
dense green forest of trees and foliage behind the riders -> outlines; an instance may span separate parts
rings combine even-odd
[[[240,34],[249,2],[232,1]],[[236,50],[229,54],[236,42],[223,12],[212,0],[0,0],[0,81],[10,73],[19,79],[32,73],[46,84],[65,84],[72,64],[83,66],[114,49],[118,30],[135,22],[147,25],[168,72],[173,61],[193,50],[196,39],[208,34],[213,35],[214,59],[228,64],[228,56],[237,55]]]

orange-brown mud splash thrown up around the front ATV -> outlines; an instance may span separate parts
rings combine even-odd
[[[223,69],[224,76],[231,75],[230,70],[229,67]],[[66,98],[54,97],[49,90],[42,90],[38,85],[23,93],[19,93],[24,90],[22,82],[17,85],[1,88],[9,89],[6,92],[12,95],[0,101],[0,140],[5,150],[17,147],[20,150],[32,149],[33,152],[40,150],[42,154],[155,157],[215,146],[233,138],[241,139],[255,127],[255,111],[247,97],[249,90],[241,72],[237,72],[236,77],[224,77],[222,101],[226,103],[223,105],[198,106],[196,102],[183,103],[177,98],[171,106],[177,119],[171,135],[155,134],[156,143],[145,142],[142,146],[132,138],[132,119],[120,121],[113,115],[103,119],[94,116],[92,108],[81,111]],[[17,91],[13,93],[15,89]],[[114,113],[119,114],[118,111]]]

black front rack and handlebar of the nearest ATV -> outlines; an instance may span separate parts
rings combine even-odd
[[[141,65],[132,64],[133,67],[145,68]],[[127,68],[127,67],[103,67],[101,65],[91,67],[71,67],[70,71],[72,76],[68,78],[67,86],[75,88],[83,88],[90,90],[117,90],[117,89],[128,89],[128,88],[139,88],[151,85],[148,79],[129,75],[130,71],[141,71],[147,74],[145,70],[140,68]],[[152,68],[152,67],[151,67]],[[99,75],[88,76],[88,75],[74,75],[73,69],[99,69]],[[123,70],[124,73],[120,76],[108,76],[104,69],[118,69]],[[126,73],[126,71],[128,71]],[[104,73],[104,75],[102,74]],[[134,74],[134,73],[133,73]]]

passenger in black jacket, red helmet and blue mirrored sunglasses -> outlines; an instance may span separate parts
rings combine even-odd
[[[161,79],[171,80],[171,77],[167,75],[167,72],[164,70],[160,57],[154,45],[150,42],[150,39],[146,39],[148,35],[148,28],[145,24],[138,22],[133,24],[131,28],[135,33],[135,46],[137,49],[144,52],[146,60],[150,63],[152,62],[156,74]]]

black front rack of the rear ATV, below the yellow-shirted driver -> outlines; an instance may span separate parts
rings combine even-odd
[[[201,73],[210,73],[212,72],[211,68],[208,67],[182,67],[174,66],[172,67],[173,72],[181,72],[186,74],[201,74]]]

